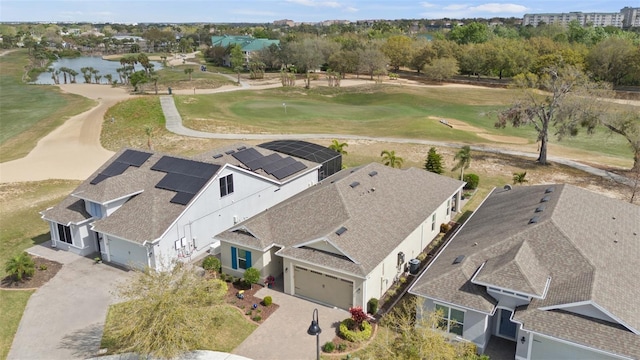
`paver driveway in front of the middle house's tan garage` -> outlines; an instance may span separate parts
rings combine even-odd
[[[315,359],[316,337],[307,334],[313,309],[318,309],[322,329],[320,346],[333,340],[340,321],[351,316],[345,310],[329,308],[268,288],[256,293],[259,298],[267,295],[280,307],[232,353],[260,360]]]

